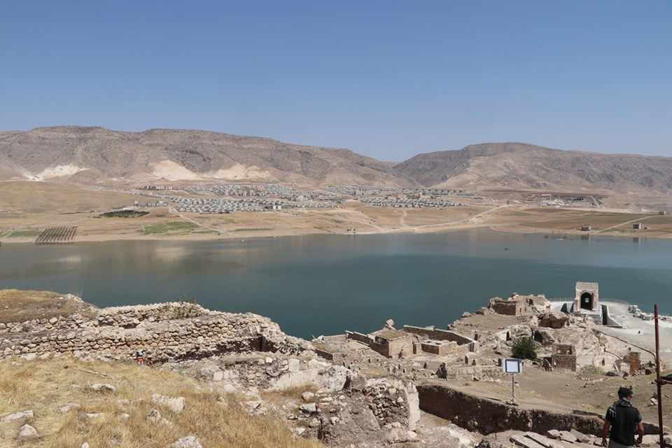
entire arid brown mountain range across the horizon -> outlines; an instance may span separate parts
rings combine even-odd
[[[248,181],[667,194],[672,158],[479,144],[381,162],[346,149],[195,130],[43,127],[0,132],[0,180],[150,184]]]

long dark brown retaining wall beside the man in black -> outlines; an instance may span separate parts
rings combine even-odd
[[[421,410],[483,434],[503,430],[545,433],[551,429],[572,428],[584,434],[601,434],[602,421],[596,416],[560,414],[544,409],[521,409],[438,384],[423,384],[417,386],[417,389]]]

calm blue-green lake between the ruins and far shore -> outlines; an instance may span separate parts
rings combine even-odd
[[[445,328],[512,292],[602,299],[672,312],[672,241],[516,235],[339,235],[244,241],[3,244],[0,288],[76,293],[99,307],[195,297],[209,309],[269,316],[291,335]]]

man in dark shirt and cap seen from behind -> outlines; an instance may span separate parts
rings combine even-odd
[[[609,448],[631,448],[639,445],[644,437],[644,423],[639,410],[631,405],[632,389],[620,387],[618,400],[607,409],[602,427],[602,446]],[[611,430],[609,428],[611,427]],[[637,428],[637,442],[635,442]],[[607,435],[609,444],[607,445]]]

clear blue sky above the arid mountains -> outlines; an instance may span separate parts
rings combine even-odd
[[[0,130],[672,156],[672,1],[0,2]]]

